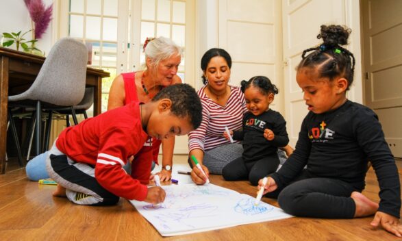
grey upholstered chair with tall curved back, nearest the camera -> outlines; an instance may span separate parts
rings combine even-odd
[[[74,112],[73,105],[84,97],[87,59],[84,43],[62,38],[51,48],[32,86],[21,94],[8,97],[10,107],[36,107],[37,155],[41,153],[42,110],[69,106]]]

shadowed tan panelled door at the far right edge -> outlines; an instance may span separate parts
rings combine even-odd
[[[402,158],[402,1],[362,1],[365,104],[375,110]]]

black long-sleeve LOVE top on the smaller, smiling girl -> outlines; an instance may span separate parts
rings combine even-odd
[[[260,116],[255,116],[251,112],[244,113],[242,127],[240,131],[233,131],[233,138],[243,141],[242,157],[246,162],[277,153],[278,147],[285,147],[289,142],[286,121],[275,110],[270,109]],[[275,138],[271,141],[266,140],[264,129],[271,129]]]

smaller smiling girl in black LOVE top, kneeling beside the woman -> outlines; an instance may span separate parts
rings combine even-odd
[[[259,179],[277,170],[278,147],[285,147],[289,138],[284,117],[269,108],[277,87],[264,76],[243,80],[241,86],[249,111],[244,113],[242,130],[229,132],[234,140],[242,140],[243,154],[227,164],[222,175],[227,181],[249,179],[257,186]],[[226,132],[223,136],[229,140]]]

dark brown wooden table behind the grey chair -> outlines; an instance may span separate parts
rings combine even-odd
[[[0,47],[0,174],[5,173],[7,143],[8,92],[21,93],[36,79],[45,58]],[[86,86],[94,88],[94,116],[101,113],[102,78],[110,74],[103,70],[87,68]]]

